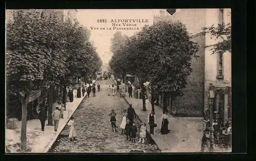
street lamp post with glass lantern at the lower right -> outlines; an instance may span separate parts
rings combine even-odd
[[[212,83],[209,84],[209,90],[207,93],[208,96],[208,105],[210,111],[210,152],[215,152],[214,150],[214,98],[215,98],[215,86]]]

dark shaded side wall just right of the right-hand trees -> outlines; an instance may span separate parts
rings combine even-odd
[[[183,89],[184,96],[174,100],[172,112],[175,116],[203,117],[205,34],[200,34],[191,40],[199,45],[197,53],[199,58],[193,58],[191,61],[193,72],[187,79],[186,88]]]

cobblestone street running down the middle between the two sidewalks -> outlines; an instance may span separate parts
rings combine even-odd
[[[110,80],[99,81],[101,91],[96,91],[96,97],[85,98],[73,114],[77,141],[71,142],[68,138],[69,129],[65,127],[58,136],[49,152],[75,152],[75,153],[127,153],[131,150],[144,150],[157,152],[159,148],[155,143],[139,144],[126,140],[125,135],[112,132],[109,113],[115,109],[117,113],[117,126],[122,121],[121,114],[128,105],[123,98],[108,96]],[[140,128],[140,121],[135,119],[136,126]],[[138,138],[138,137],[137,137]]]

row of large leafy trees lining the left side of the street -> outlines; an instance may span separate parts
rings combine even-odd
[[[15,94],[22,102],[22,150],[27,149],[27,105],[32,90],[44,87],[51,96],[54,86],[66,89],[72,79],[100,70],[102,61],[89,38],[90,32],[78,21],[44,11],[16,11],[13,24],[7,24],[11,57],[6,64],[7,95]],[[51,111],[49,107],[49,117]]]

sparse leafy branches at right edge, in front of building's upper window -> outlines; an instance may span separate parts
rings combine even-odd
[[[212,54],[223,54],[226,51],[231,53],[231,24],[218,24],[217,27],[212,25],[208,28],[203,28],[211,35],[211,38],[221,39],[221,41],[214,45]]]

